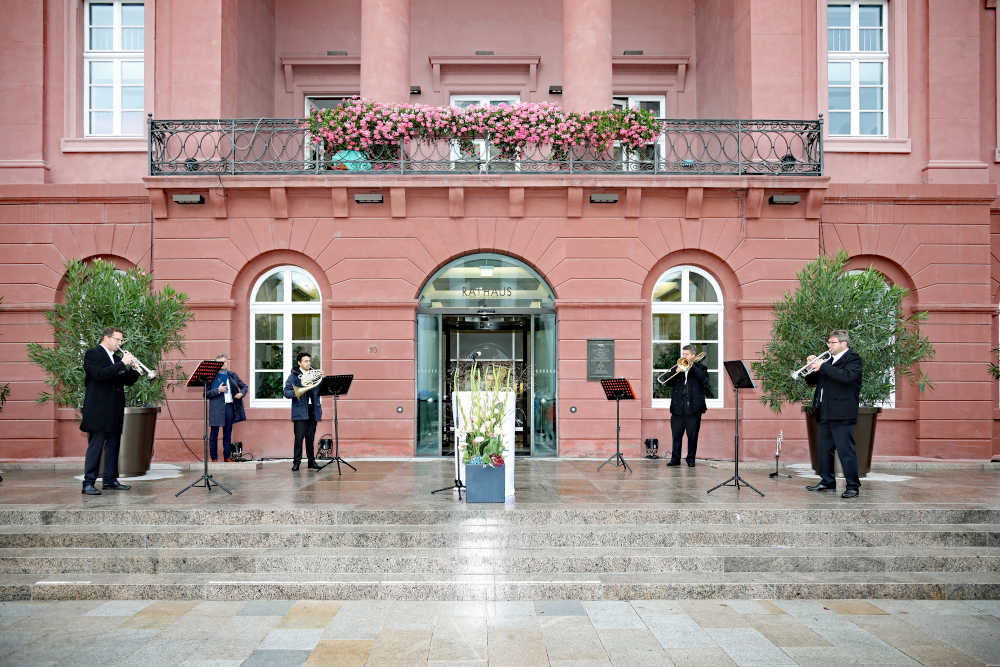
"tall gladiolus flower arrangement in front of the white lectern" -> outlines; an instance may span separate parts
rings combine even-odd
[[[455,373],[454,391],[467,391],[467,404],[458,402],[465,442],[459,443],[462,463],[496,468],[504,464],[503,421],[505,394],[514,390],[513,369],[501,364],[479,366],[473,362],[464,373]],[[464,389],[463,389],[464,387]]]

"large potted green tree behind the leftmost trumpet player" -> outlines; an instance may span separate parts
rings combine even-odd
[[[182,377],[180,365],[163,363],[163,356],[183,350],[181,332],[193,317],[187,295],[169,285],[154,290],[152,284],[152,276],[142,269],[121,271],[99,259],[72,259],[66,263],[65,302],[45,313],[55,344],[28,344],[28,357],[42,367],[51,387],[38,402],[53,400],[78,414],[85,392],[83,356],[100,342],[104,327],[120,328],[123,348],[155,371],[155,377],[143,373],[125,388],[119,468],[132,475],[149,469],[159,405],[170,381]]]

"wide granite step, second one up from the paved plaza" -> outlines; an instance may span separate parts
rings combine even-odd
[[[982,547],[666,547],[621,549],[442,548],[14,548],[0,574],[315,573],[561,574],[648,572],[992,572],[1000,552]]]

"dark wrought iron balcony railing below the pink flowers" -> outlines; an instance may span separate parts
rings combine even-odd
[[[560,153],[534,145],[511,159],[484,136],[405,141],[328,154],[293,118],[149,120],[149,174],[823,174],[823,119],[663,121],[648,146]]]

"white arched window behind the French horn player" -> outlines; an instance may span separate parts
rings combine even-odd
[[[262,275],[250,292],[251,403],[284,405],[285,378],[295,355],[308,352],[320,368],[323,351],[319,285],[297,266],[279,266]]]

